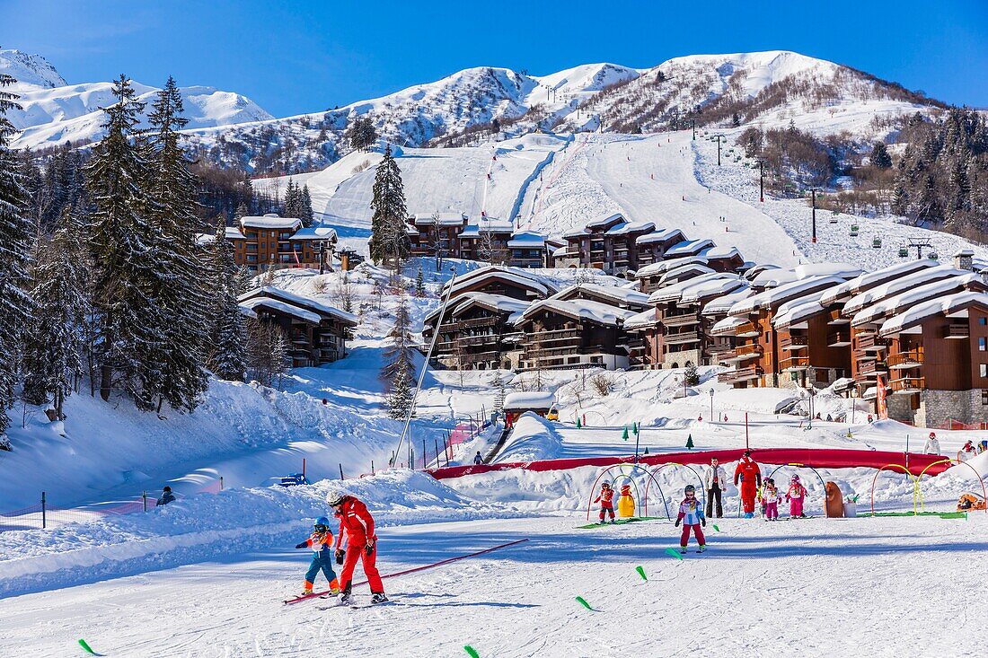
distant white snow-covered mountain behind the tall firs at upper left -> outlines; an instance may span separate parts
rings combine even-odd
[[[12,91],[20,110],[7,117],[21,130],[15,148],[54,146],[66,140],[90,141],[102,136],[103,112],[113,102],[110,82],[70,85],[44,57],[19,50],[0,50],[0,72],[18,82]],[[142,101],[150,102],[156,87],[134,83]],[[271,120],[272,116],[245,96],[212,87],[183,87],[190,128]]]

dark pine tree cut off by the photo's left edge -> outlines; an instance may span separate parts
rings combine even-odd
[[[21,361],[22,332],[31,316],[28,292],[32,225],[28,190],[16,154],[7,146],[14,125],[7,112],[17,96],[4,91],[15,82],[0,73],[0,445],[7,444],[7,409],[14,404],[14,382]]]

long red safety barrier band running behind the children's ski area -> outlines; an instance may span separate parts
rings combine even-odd
[[[691,451],[691,452],[662,452],[639,454],[638,463],[656,465],[660,463],[709,463],[716,457],[719,461],[737,461],[744,453],[743,448],[723,451]],[[918,452],[886,452],[886,451],[855,451],[830,448],[766,448],[752,449],[752,457],[761,463],[789,464],[799,463],[815,468],[881,468],[889,463],[903,463],[914,475],[919,475],[924,468],[944,457],[939,454],[920,454]],[[504,463],[471,464],[466,466],[446,466],[431,468],[427,472],[438,480],[463,475],[476,475],[496,470],[523,468],[536,472],[551,470],[567,470],[581,466],[611,466],[616,463],[635,461],[634,455],[600,456],[600,457],[571,457],[566,459],[543,459],[540,461],[509,461]],[[946,464],[934,465],[926,472],[937,475],[947,470]]]

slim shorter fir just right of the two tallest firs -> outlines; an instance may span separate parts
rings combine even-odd
[[[209,370],[223,379],[242,381],[247,369],[244,316],[237,303],[236,265],[233,246],[226,239],[223,220],[216,222],[216,234],[210,248]]]

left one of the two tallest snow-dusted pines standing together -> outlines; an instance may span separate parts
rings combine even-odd
[[[144,186],[151,168],[136,133],[144,104],[124,75],[114,82],[117,102],[106,109],[106,137],[93,149],[85,168],[93,207],[90,251],[94,262],[93,307],[98,316],[95,361],[100,396],[110,399],[115,387],[151,410],[161,389],[159,361],[164,326],[153,296],[157,246],[161,240],[148,218],[151,207]]]

